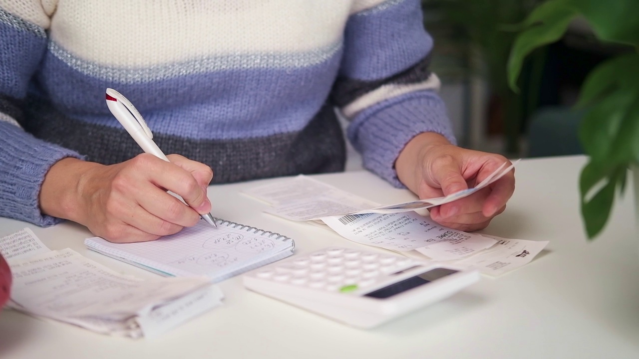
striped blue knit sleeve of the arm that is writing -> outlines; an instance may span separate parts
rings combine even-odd
[[[36,139],[20,127],[29,80],[47,47],[45,29],[0,9],[0,216],[52,225],[38,197],[45,174],[69,149]]]

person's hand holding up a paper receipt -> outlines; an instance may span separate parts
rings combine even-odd
[[[426,199],[474,187],[505,162],[511,164],[501,155],[460,148],[428,132],[406,144],[395,168],[399,180]],[[505,210],[514,187],[513,170],[468,197],[431,208],[431,218],[461,231],[483,229]]]

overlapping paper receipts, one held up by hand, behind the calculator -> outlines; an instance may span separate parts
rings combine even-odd
[[[366,245],[386,248],[418,259],[442,261],[502,275],[523,266],[548,241],[499,238],[443,227],[415,212],[456,201],[497,181],[510,167],[502,166],[473,188],[435,199],[379,206],[306,176],[251,188],[245,193],[272,204],[266,212],[289,220],[328,225],[335,232]]]

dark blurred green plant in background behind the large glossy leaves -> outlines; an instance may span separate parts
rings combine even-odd
[[[533,79],[523,86],[528,91],[528,102],[514,93],[508,86],[504,72],[516,32],[512,26],[525,19],[540,0],[422,0],[426,28],[435,37],[435,51],[444,47],[455,47],[465,57],[465,70],[480,73],[487,80],[495,96],[499,111],[504,118],[505,151],[519,152],[524,110],[536,106],[535,96],[539,84]],[[477,57],[480,61],[477,61]],[[534,54],[529,61],[532,72],[543,66],[544,54]],[[437,53],[438,75],[446,73],[450,59]],[[537,76],[535,79],[539,79]],[[505,120],[507,119],[507,120]]]

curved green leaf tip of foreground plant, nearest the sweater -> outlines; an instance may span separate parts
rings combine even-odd
[[[508,84],[513,91],[518,91],[517,79],[525,57],[532,50],[559,40],[576,15],[569,1],[551,0],[539,5],[524,20],[528,28],[515,40],[508,59]]]

